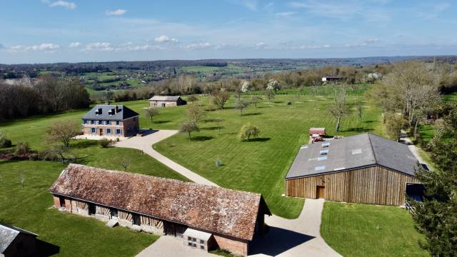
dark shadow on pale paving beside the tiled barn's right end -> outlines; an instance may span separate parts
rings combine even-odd
[[[265,236],[256,238],[256,240],[251,243],[249,254],[263,253],[267,256],[278,256],[313,238],[314,236],[308,236],[303,233],[271,226]]]

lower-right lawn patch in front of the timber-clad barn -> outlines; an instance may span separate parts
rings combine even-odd
[[[321,235],[343,256],[428,256],[410,214],[396,206],[326,202]]]

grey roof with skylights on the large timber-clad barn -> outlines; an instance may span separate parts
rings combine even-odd
[[[322,154],[321,151],[327,151],[327,154]],[[301,146],[286,178],[315,176],[374,165],[414,176],[418,160],[403,143],[364,133]]]

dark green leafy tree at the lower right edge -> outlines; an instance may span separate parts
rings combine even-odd
[[[431,141],[433,171],[418,170],[416,178],[426,191],[423,203],[410,201],[418,231],[427,242],[423,244],[431,256],[457,256],[457,109],[446,116],[445,127]],[[444,140],[443,135],[454,135]]]

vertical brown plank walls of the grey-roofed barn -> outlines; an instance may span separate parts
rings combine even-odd
[[[371,166],[288,179],[286,195],[316,198],[317,187],[324,186],[326,200],[401,206],[405,202],[406,182],[418,180],[388,168]]]

